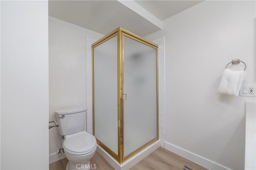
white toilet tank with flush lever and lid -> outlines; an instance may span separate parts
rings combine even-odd
[[[82,131],[86,118],[86,107],[72,107],[56,110],[58,130],[60,135]]]

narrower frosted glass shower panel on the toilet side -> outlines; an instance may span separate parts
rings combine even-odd
[[[118,155],[117,36],[93,53],[94,136]]]

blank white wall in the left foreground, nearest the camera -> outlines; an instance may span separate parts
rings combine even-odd
[[[48,169],[48,1],[1,1],[1,169]]]

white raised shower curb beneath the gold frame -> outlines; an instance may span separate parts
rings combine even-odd
[[[96,152],[98,152],[115,170],[129,170],[159,147],[160,140],[157,140],[156,142],[154,142],[150,146],[147,146],[142,151],[138,152],[137,154],[135,154],[129,160],[126,160],[122,164],[119,164],[114,158],[112,158],[112,156],[110,156],[110,154],[108,154],[100,146],[97,146]]]

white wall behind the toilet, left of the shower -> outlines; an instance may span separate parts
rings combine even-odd
[[[49,16],[49,120],[56,120],[56,109],[86,106],[86,37],[103,36]],[[50,162],[58,160],[58,128],[49,130],[49,144]]]

